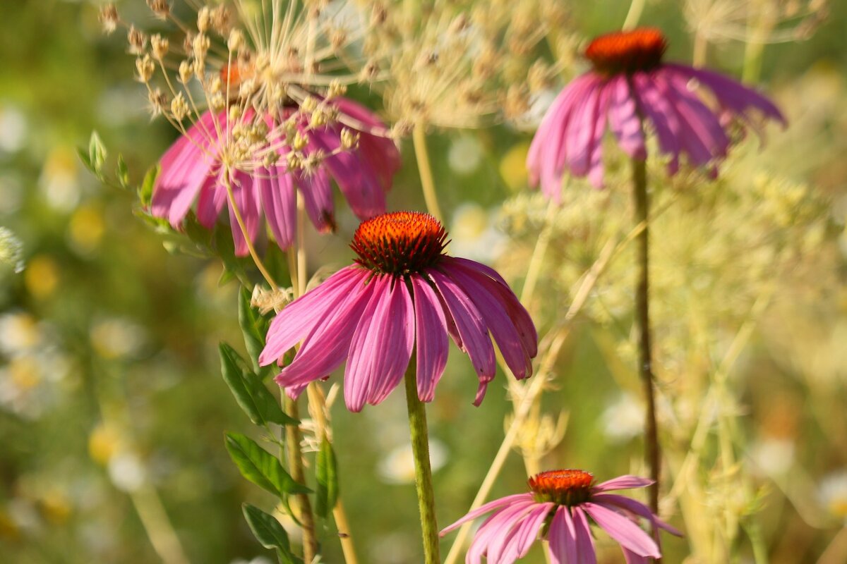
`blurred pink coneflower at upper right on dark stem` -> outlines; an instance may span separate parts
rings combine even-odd
[[[771,101],[733,79],[662,62],[666,47],[665,36],[652,28],[591,41],[585,57],[594,69],[562,90],[535,134],[527,156],[530,183],[540,182],[556,201],[566,169],[601,187],[606,124],[617,145],[634,159],[646,158],[645,134],[656,134],[659,151],[670,156],[667,170],[673,175],[680,156],[694,167],[726,156],[733,121],[755,129],[765,118],[785,123]]]

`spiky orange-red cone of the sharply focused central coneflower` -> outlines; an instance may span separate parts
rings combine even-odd
[[[362,222],[353,234],[356,262],[379,274],[401,276],[434,266],[446,245],[447,232],[435,217],[418,211],[395,211]]]

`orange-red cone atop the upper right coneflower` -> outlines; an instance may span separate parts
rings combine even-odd
[[[601,73],[634,73],[659,66],[666,48],[662,31],[645,27],[596,37],[585,50],[585,57]]]

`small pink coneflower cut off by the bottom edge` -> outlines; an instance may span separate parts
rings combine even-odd
[[[542,472],[529,479],[531,493],[490,501],[442,530],[441,535],[494,510],[473,538],[465,560],[468,564],[479,564],[483,556],[488,564],[511,564],[526,556],[539,533],[547,540],[554,564],[588,564],[596,562],[590,528],[594,522],[621,545],[628,564],[648,562],[661,558],[662,550],[658,534],[647,534],[639,527],[639,519],[649,522],[654,531],[663,528],[680,533],[639,501],[608,492],[652,483],[620,476],[594,485],[594,475],[583,470]]]

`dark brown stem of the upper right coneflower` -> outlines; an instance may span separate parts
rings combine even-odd
[[[649,275],[649,240],[650,227],[647,222],[650,203],[647,200],[647,171],[646,163],[641,159],[633,159],[633,202],[635,206],[635,224],[644,224],[644,229],[635,241],[635,255],[639,266],[638,282],[635,286],[635,326],[638,339],[638,368],[639,376],[644,385],[647,401],[645,415],[645,462],[650,471],[650,478],[655,484],[650,486],[650,510],[659,510],[659,437],[656,427],[656,394],[655,376],[653,375],[653,360],[650,348],[650,275]]]

